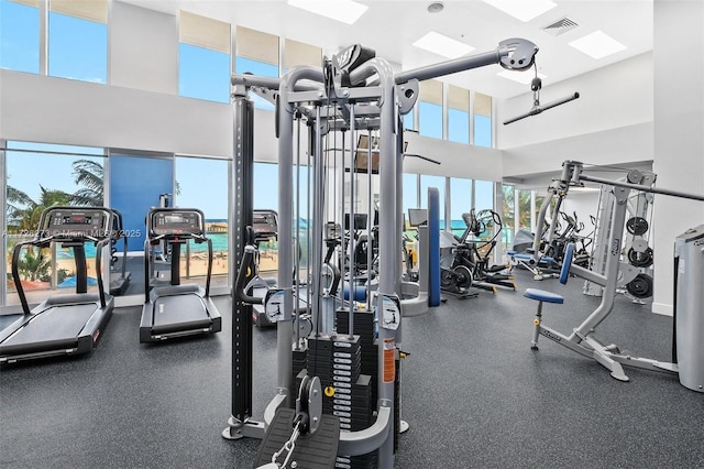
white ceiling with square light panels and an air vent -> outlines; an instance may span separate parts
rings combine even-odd
[[[429,31],[473,46],[470,55],[494,51],[505,39],[524,37],[540,48],[536,62],[539,73],[546,76],[543,87],[652,50],[652,0],[553,0],[558,4],[556,8],[528,22],[517,20],[482,0],[443,0],[444,9],[438,13],[428,11],[432,0],[358,0],[369,9],[352,25],[294,8],[286,0],[122,1],[172,14],[183,9],[314,44],[326,53],[352,43],[362,43],[402,69],[447,61],[446,57],[411,45]],[[558,36],[542,30],[564,18],[578,26]],[[624,44],[626,50],[595,59],[569,45],[597,30]],[[446,80],[497,98],[529,91],[528,85],[499,77],[496,75],[499,72],[499,66],[490,66],[454,74]],[[534,72],[525,74],[532,76]]]

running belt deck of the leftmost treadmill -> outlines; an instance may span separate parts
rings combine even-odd
[[[95,303],[45,309],[2,342],[2,353],[16,353],[26,347],[33,350],[52,349],[58,342],[75,341],[96,309]]]

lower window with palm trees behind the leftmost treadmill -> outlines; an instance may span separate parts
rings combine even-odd
[[[8,142],[7,161],[7,272],[14,246],[31,239],[45,208],[52,205],[103,205],[102,149]],[[52,153],[48,153],[52,152]],[[58,153],[58,154],[56,154]],[[88,276],[95,281],[96,250],[86,248]],[[92,262],[91,262],[92,259]],[[22,250],[20,277],[25,291],[63,288],[75,275],[73,250],[53,246]],[[19,304],[14,283],[8,283],[7,304]]]

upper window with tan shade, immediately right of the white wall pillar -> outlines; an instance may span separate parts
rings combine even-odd
[[[178,94],[230,102],[230,24],[180,12]]]

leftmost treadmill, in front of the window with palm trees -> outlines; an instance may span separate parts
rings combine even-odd
[[[112,240],[112,210],[103,207],[50,207],[42,212],[36,236],[12,252],[12,279],[22,315],[0,331],[0,364],[92,351],[112,315],[114,301],[102,282],[102,251]],[[76,293],[54,295],[30,309],[19,274],[23,248],[72,248]],[[86,244],[96,247],[98,293],[88,292]]]

